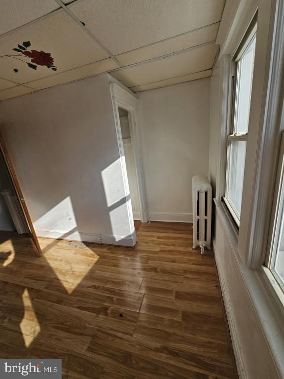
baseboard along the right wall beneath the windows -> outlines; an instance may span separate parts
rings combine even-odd
[[[239,341],[238,333],[237,333],[237,330],[235,327],[233,311],[232,311],[232,307],[231,307],[230,297],[229,297],[229,294],[227,291],[227,286],[226,286],[225,279],[224,279],[222,265],[220,262],[219,255],[216,252],[215,241],[213,241],[213,252],[214,252],[215,262],[216,262],[216,266],[217,266],[219,281],[220,281],[220,285],[221,285],[221,292],[222,292],[224,305],[225,305],[225,309],[226,309],[226,315],[227,315],[227,320],[228,320],[228,324],[229,324],[230,335],[231,335],[234,355],[235,355],[235,359],[236,359],[236,365],[237,365],[237,370],[238,370],[238,374],[239,374],[239,379],[248,379],[247,373],[245,371],[246,366],[244,363],[243,354],[242,354],[242,350],[240,347],[241,343]]]

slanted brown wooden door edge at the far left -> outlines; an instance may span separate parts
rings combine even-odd
[[[30,213],[29,213],[27,205],[26,205],[26,201],[25,201],[24,196],[23,196],[23,192],[21,190],[18,178],[16,176],[16,173],[15,173],[15,170],[14,170],[11,158],[10,158],[10,154],[7,150],[7,147],[6,147],[6,144],[4,142],[1,131],[0,131],[0,152],[1,152],[1,155],[3,157],[3,161],[4,161],[4,164],[6,166],[7,173],[9,175],[10,181],[12,183],[12,186],[13,186],[15,195],[17,197],[18,203],[20,204],[22,213],[24,215],[24,219],[25,219],[26,224],[27,224],[27,229],[29,230],[31,238],[32,238],[32,240],[36,246],[37,252],[41,255],[42,251],[41,251],[41,248],[40,248],[37,236],[36,236],[36,231],[35,231]]]

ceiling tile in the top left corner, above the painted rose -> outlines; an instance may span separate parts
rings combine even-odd
[[[1,0],[0,34],[18,28],[59,8],[55,0]]]

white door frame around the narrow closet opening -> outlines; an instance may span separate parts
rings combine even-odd
[[[131,143],[133,147],[134,163],[135,163],[135,168],[136,168],[140,218],[141,218],[142,223],[146,223],[148,221],[148,214],[147,214],[145,184],[144,184],[143,166],[142,166],[142,155],[141,155],[141,144],[140,144],[141,139],[139,135],[138,117],[137,117],[138,99],[134,95],[132,95],[130,92],[126,91],[124,88],[120,87],[116,83],[110,84],[110,93],[111,93],[112,108],[113,108],[113,114],[114,114],[116,136],[117,136],[120,157],[124,157],[124,149],[123,149],[123,140],[122,140],[121,128],[120,128],[118,107],[123,108],[128,112],[130,136],[131,136]],[[122,173],[123,173],[124,182],[127,183],[127,187],[129,187],[126,167],[125,169],[122,170]],[[131,219],[133,221],[132,207],[131,207]]]

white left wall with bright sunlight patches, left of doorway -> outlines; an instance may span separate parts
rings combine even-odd
[[[107,75],[1,102],[0,125],[38,235],[129,243]]]

